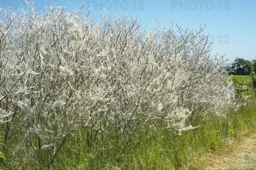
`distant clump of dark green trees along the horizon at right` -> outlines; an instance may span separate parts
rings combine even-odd
[[[235,71],[234,68],[238,67]],[[238,61],[230,66],[226,66],[226,69],[230,74],[233,75],[251,75],[256,73],[256,59],[246,60],[243,58],[238,58]]]

